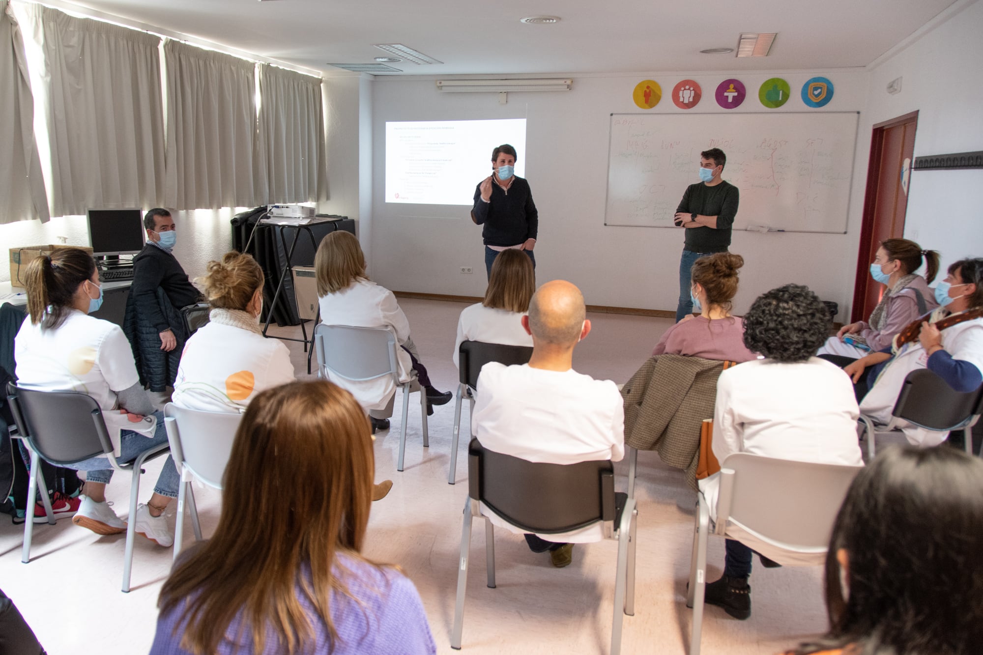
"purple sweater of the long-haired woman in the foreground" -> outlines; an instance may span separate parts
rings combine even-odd
[[[374,653],[377,655],[416,655],[417,653],[436,653],[434,636],[431,634],[423,603],[413,582],[392,568],[376,568],[349,556],[338,555],[342,566],[350,573],[341,573],[352,595],[363,604],[358,605],[348,596],[332,593],[330,599],[331,619],[338,632],[331,655],[352,655],[355,653]],[[335,574],[338,574],[337,567]],[[312,610],[310,603],[298,595],[301,604]],[[150,655],[190,655],[181,648],[181,635],[184,625],[179,625],[181,609],[157,618],[157,633],[153,637]],[[327,625],[312,612],[311,621],[315,627],[317,643],[313,651],[328,653]],[[235,646],[230,640],[242,624],[241,615],[233,620],[226,631],[226,639],[218,647],[220,655],[259,655],[253,649],[252,630],[249,626],[243,631],[244,642]],[[175,633],[175,628],[177,631]],[[266,642],[261,653],[273,655],[286,652],[278,641],[267,631]]]

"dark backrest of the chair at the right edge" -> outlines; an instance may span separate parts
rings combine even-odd
[[[904,378],[892,415],[929,430],[948,431],[968,424],[983,406],[983,386],[960,393],[928,369]]]

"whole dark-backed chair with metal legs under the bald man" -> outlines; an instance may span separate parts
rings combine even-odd
[[[576,464],[530,462],[488,450],[472,439],[468,447],[468,499],[464,504],[461,555],[457,569],[457,604],[450,646],[461,648],[464,595],[472,519],[485,517],[488,586],[494,589],[494,528],[481,504],[519,531],[538,534],[572,532],[601,523],[606,539],[616,539],[614,619],[611,655],[621,649],[622,612],[635,615],[635,530],[638,508],[627,494],[614,491],[614,467],[605,460]]]

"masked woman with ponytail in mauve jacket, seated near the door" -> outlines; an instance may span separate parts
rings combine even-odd
[[[915,271],[925,265],[925,276]],[[877,249],[870,274],[887,286],[867,321],[839,328],[819,349],[820,355],[859,359],[891,345],[897,332],[939,306],[928,285],[939,272],[939,253],[922,250],[908,239],[886,239]]]

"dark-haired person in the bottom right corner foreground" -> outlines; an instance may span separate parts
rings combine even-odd
[[[983,643],[983,460],[888,447],[853,480],[826,559],[830,631],[789,655],[970,655]]]

